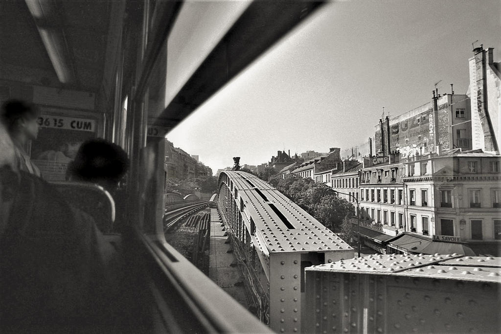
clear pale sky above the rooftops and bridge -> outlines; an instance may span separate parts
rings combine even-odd
[[[270,161],[278,150],[328,152],[374,136],[439,93],[465,94],[475,47],[501,61],[501,2],[329,3],[167,134],[212,168]]]

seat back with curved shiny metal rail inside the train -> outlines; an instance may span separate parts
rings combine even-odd
[[[103,187],[80,182],[54,182],[52,184],[69,204],[90,215],[102,233],[113,231],[115,201]]]

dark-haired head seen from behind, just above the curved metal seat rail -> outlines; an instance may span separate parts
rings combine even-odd
[[[127,153],[104,139],[84,142],[68,166],[71,180],[93,182],[107,190],[115,190],[127,172]]]

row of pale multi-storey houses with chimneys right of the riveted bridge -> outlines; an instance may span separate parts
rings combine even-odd
[[[328,184],[352,202],[363,242],[381,253],[499,255],[500,67],[491,48],[476,48],[469,66],[465,95],[451,85],[449,94],[435,90],[430,102],[380,119],[366,156],[331,148],[281,173]]]

